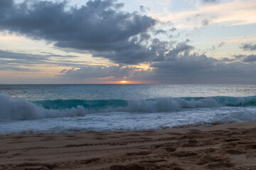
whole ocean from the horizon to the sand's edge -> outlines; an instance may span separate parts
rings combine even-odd
[[[0,85],[0,134],[149,130],[256,120],[256,86]]]

